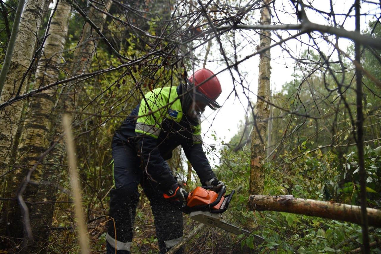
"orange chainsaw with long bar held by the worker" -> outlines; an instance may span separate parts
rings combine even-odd
[[[239,228],[223,220],[221,214],[225,212],[235,193],[233,190],[229,195],[224,195],[226,188],[221,187],[218,193],[211,190],[212,186],[197,187],[187,196],[182,203],[180,210],[189,214],[189,218],[196,220],[211,227],[219,227],[235,235],[244,234],[249,236],[250,231]],[[256,243],[262,243],[264,238],[253,235]]]

